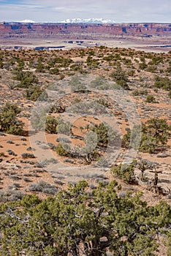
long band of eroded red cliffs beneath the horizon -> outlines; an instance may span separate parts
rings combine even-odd
[[[0,23],[0,38],[171,37],[170,23]]]

